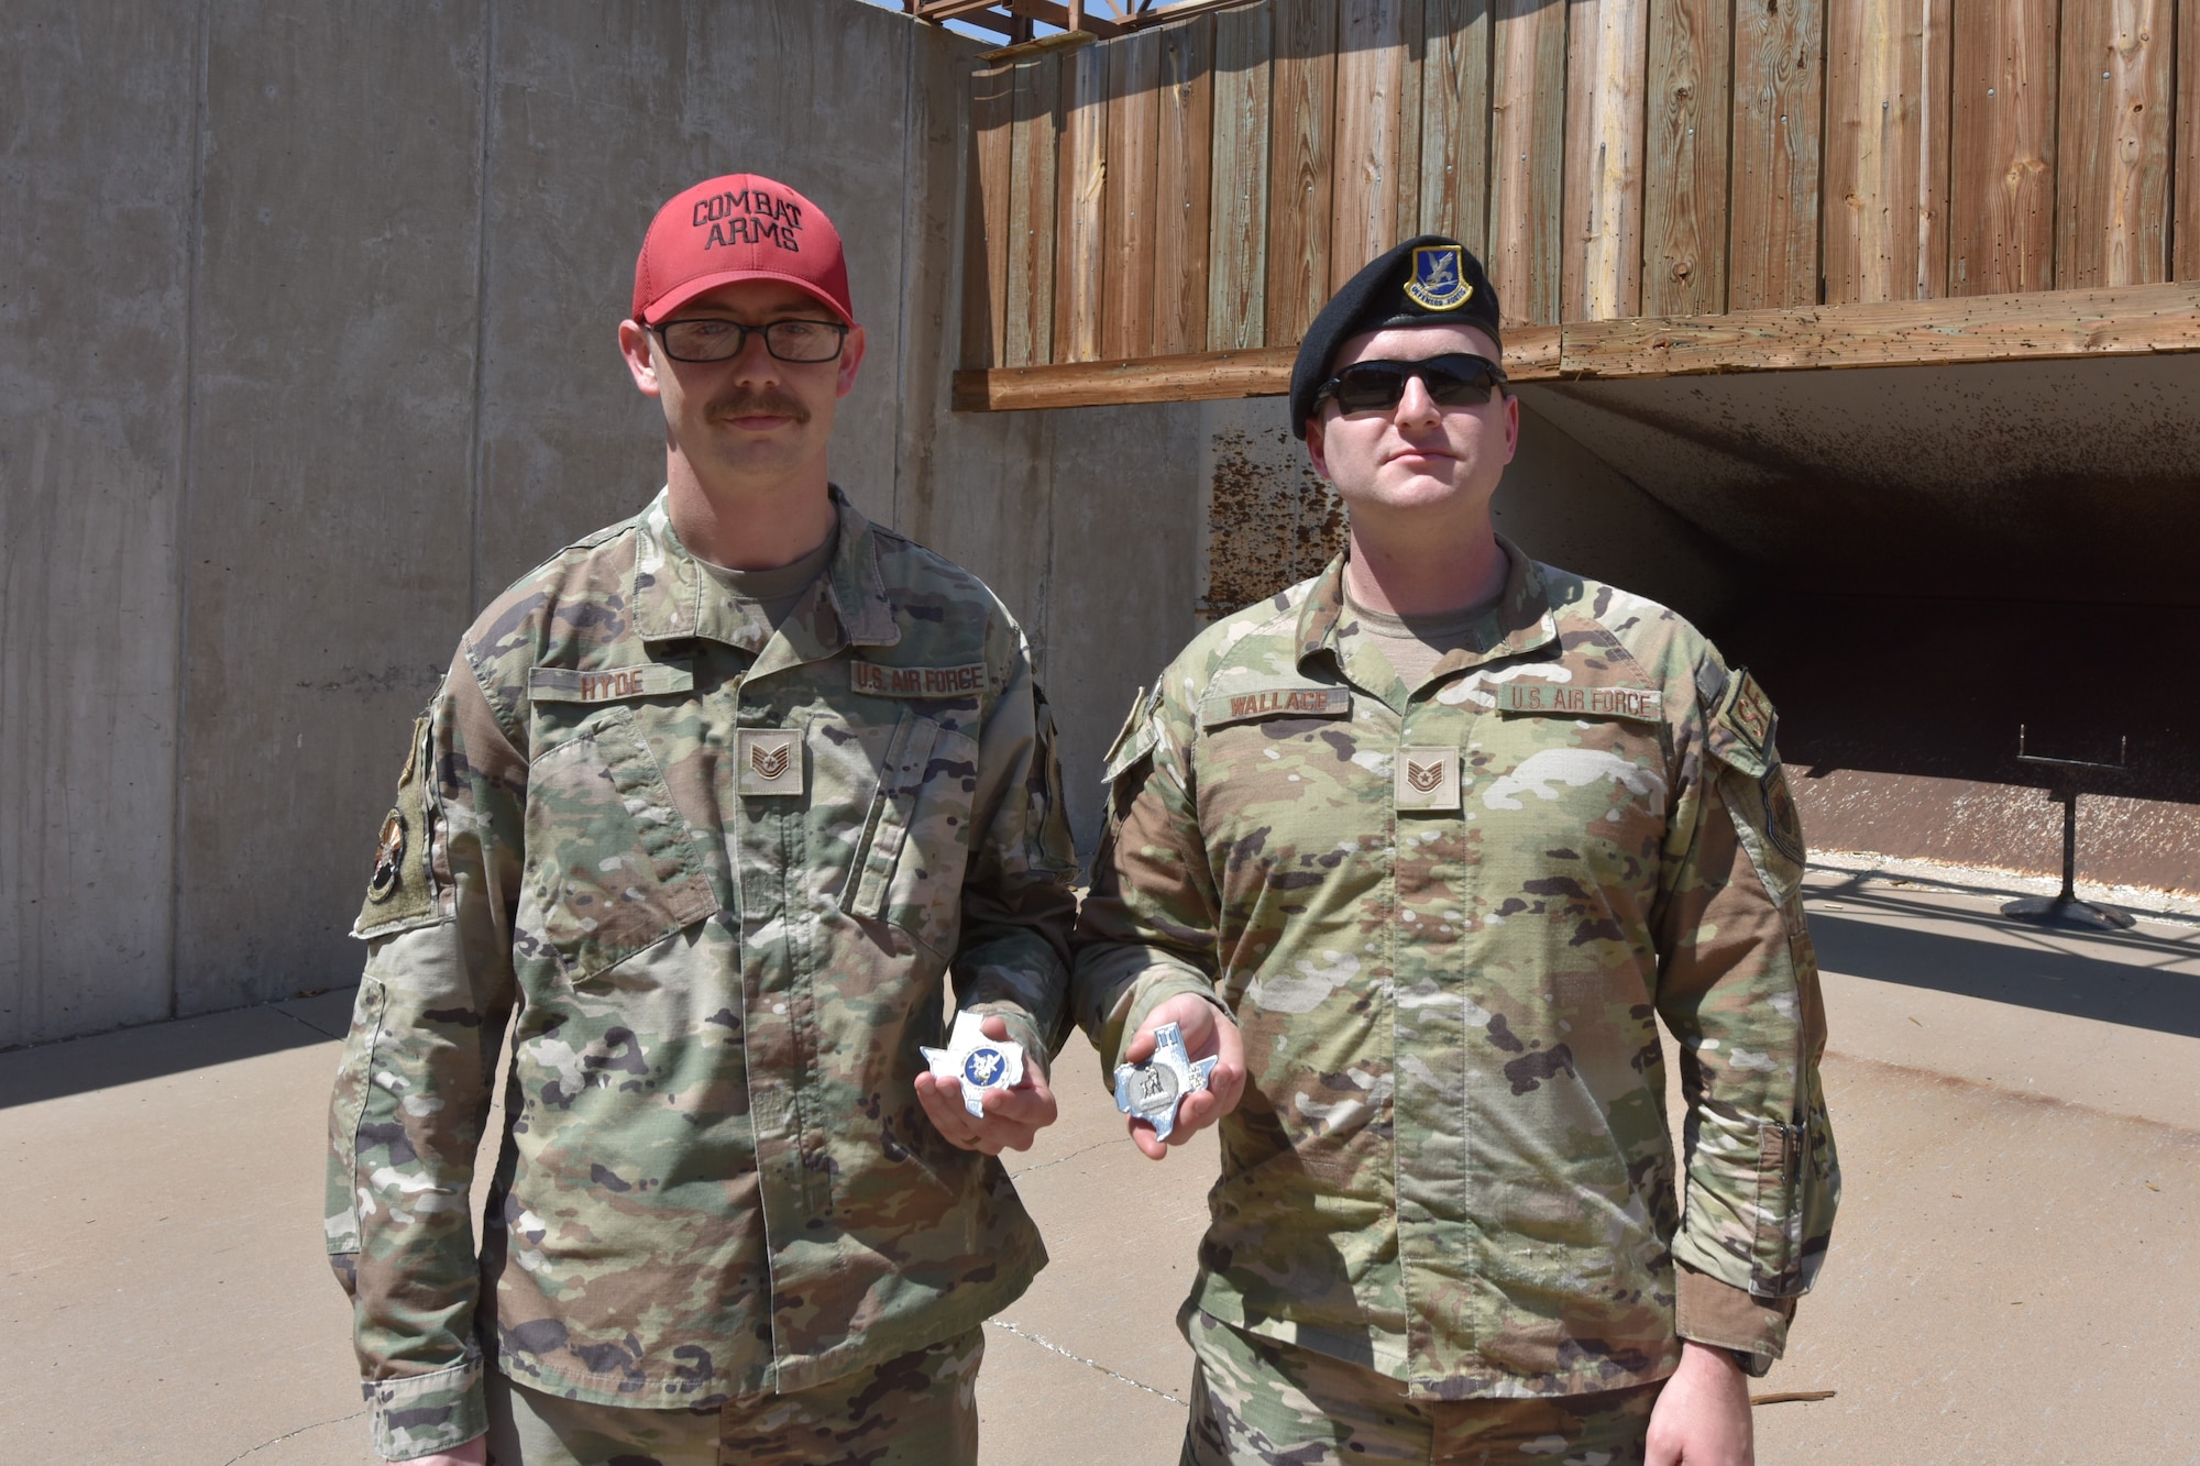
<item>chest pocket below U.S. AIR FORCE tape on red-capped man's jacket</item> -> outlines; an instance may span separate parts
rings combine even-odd
[[[933,951],[953,953],[975,797],[977,740],[904,711],[887,746],[840,909],[893,922]]]

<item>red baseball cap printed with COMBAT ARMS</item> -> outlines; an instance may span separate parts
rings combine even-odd
[[[759,174],[706,178],[658,209],[634,262],[634,319],[656,326],[735,280],[783,280],[856,324],[840,233],[814,203]]]

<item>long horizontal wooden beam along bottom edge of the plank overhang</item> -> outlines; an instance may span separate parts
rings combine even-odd
[[[2200,352],[2200,282],[2031,295],[1571,321],[1505,332],[1514,381],[1969,365]],[[1283,396],[1296,352],[994,368],[955,374],[957,412]]]

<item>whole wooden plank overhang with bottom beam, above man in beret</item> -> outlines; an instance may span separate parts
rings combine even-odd
[[[1126,9],[972,75],[959,409],[1280,394],[1419,231],[1520,381],[2200,350],[2196,0]]]

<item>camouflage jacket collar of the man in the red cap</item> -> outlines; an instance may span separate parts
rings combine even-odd
[[[851,645],[898,643],[902,630],[887,594],[887,577],[878,568],[878,535],[838,484],[829,493],[840,515],[832,561],[774,634],[752,605],[737,601],[680,544],[671,517],[671,489],[660,489],[636,522],[634,570],[627,586],[634,630],[642,641],[700,636],[755,652],[757,671],[768,669],[763,663],[816,663]],[[785,652],[763,656],[774,643],[783,643]]]

